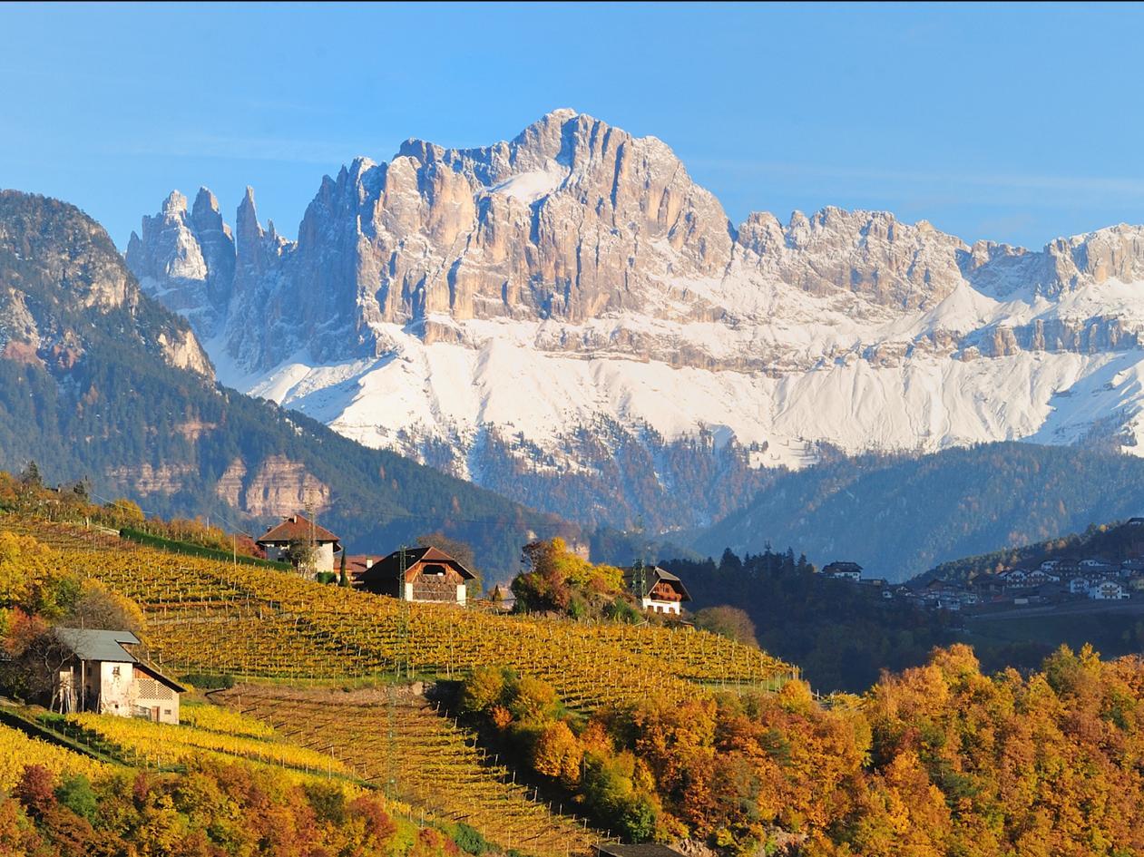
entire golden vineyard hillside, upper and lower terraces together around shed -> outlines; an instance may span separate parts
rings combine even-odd
[[[587,854],[606,834],[563,807],[535,802],[534,794],[530,800],[530,789],[490,763],[469,732],[394,679],[463,676],[478,665],[501,665],[543,679],[570,708],[590,711],[653,691],[683,699],[710,684],[777,688],[795,675],[757,649],[705,632],[410,604],[64,524],[6,517],[3,529],[33,535],[56,549],[65,568],[138,602],[150,657],[164,668],[278,680],[222,693],[240,714],[278,727],[276,733],[208,709],[188,709],[200,728],[176,732],[88,715],[76,727],[148,759],[238,755],[297,776],[320,773],[326,759],[326,776],[380,785],[440,822],[464,822],[501,847],[538,857]],[[302,689],[347,680],[374,688]],[[237,727],[231,716],[239,717]]]

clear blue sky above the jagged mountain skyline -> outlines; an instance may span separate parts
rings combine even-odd
[[[1040,247],[1144,222],[1139,6],[5,6],[0,187],[122,247],[172,188],[293,237],[323,174],[571,106],[729,216],[885,208]]]

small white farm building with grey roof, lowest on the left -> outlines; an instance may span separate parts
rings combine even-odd
[[[140,640],[129,630],[56,628],[61,654],[51,707],[178,723],[184,688],[128,650]]]

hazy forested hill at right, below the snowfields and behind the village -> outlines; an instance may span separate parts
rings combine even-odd
[[[1001,443],[932,455],[837,458],[778,476],[692,546],[718,556],[797,545],[825,565],[907,580],[938,563],[1144,511],[1144,459]]]

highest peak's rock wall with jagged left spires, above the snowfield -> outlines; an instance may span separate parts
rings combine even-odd
[[[229,354],[252,370],[302,347],[320,360],[381,354],[386,323],[447,335],[434,316],[721,315],[677,300],[677,283],[721,277],[733,247],[718,201],[662,142],[566,110],[486,149],[410,140],[389,164],[359,158],[323,181],[296,243],[263,230],[247,189],[232,273],[177,193],[142,231],[132,270],[204,335],[225,317]]]

